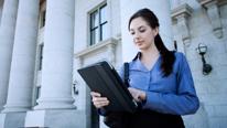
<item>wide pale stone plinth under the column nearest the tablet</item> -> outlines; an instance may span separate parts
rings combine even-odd
[[[25,127],[87,128],[86,120],[82,110],[34,110],[26,113]]]

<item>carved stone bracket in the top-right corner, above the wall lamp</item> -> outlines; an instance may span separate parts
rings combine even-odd
[[[219,7],[224,0],[197,0],[206,9],[207,15],[213,26],[213,33],[216,38],[223,38],[223,25],[220,21]]]

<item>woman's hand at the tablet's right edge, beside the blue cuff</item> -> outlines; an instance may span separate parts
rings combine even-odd
[[[147,98],[145,92],[143,92],[141,89],[133,88],[133,87],[129,87],[128,89],[129,89],[130,94],[132,95],[132,97],[136,99],[136,102],[145,100],[145,98]]]

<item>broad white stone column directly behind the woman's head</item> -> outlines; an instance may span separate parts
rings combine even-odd
[[[160,7],[162,7],[162,9]],[[160,21],[160,35],[166,47],[169,47],[169,50],[173,50],[171,11],[169,0],[121,0],[120,9],[123,61],[131,61],[138,51],[136,50],[131,35],[128,31],[128,21],[136,11],[142,8],[149,8],[155,13]]]

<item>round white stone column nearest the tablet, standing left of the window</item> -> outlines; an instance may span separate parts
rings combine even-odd
[[[74,0],[47,0],[41,97],[35,109],[75,108],[72,97]]]

